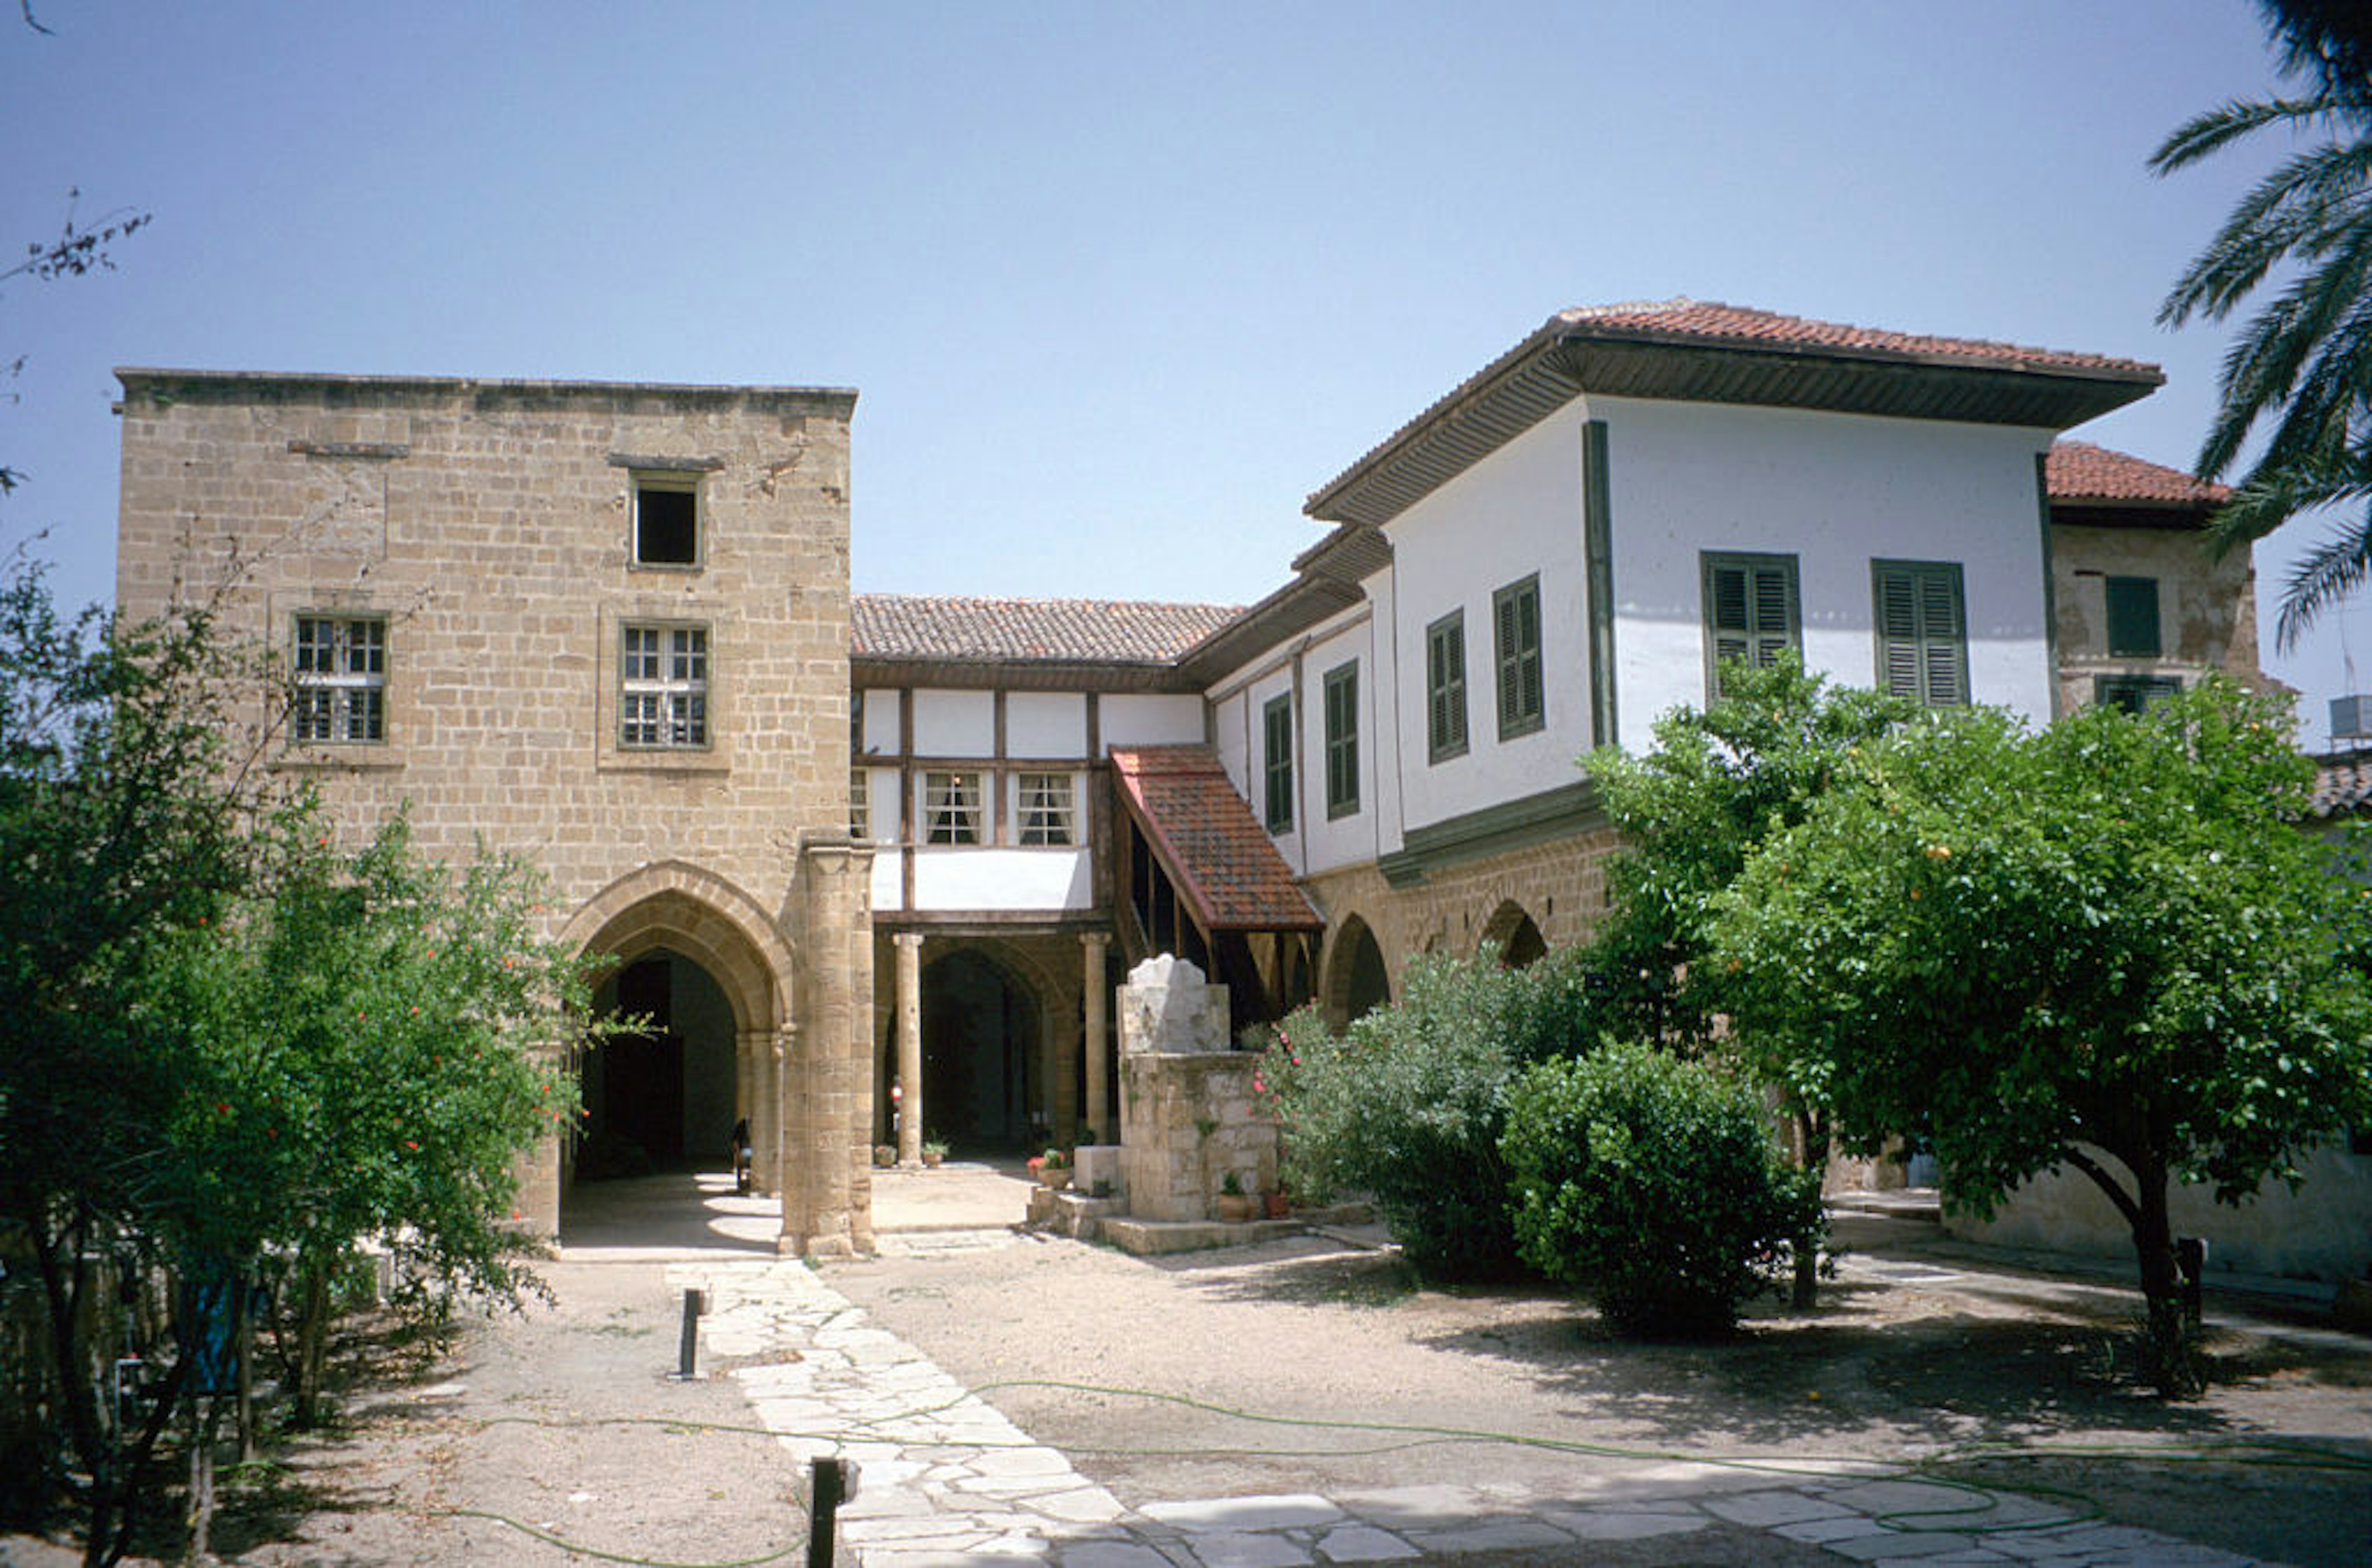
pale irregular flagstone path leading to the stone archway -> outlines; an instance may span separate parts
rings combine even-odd
[[[927,1250],[935,1241],[916,1236],[906,1245]],[[954,1238],[944,1245],[961,1250]],[[1817,1547],[1838,1563],[2251,1563],[2149,1530],[2071,1521],[2026,1497],[1905,1480],[1876,1466],[1867,1475],[1824,1471],[1779,1480],[1670,1464],[1656,1480],[1672,1494],[1646,1502],[1580,1504],[1513,1485],[1418,1485],[1129,1509],[913,1345],[873,1326],[806,1264],[676,1262],[667,1283],[707,1293],[707,1355],[747,1362],[731,1376],[802,1464],[837,1454],[859,1466],[840,1530],[863,1568],[1015,1559],[1060,1568],[1290,1568],[1454,1554],[1570,1561],[1589,1542],[1682,1537],[1717,1523]]]

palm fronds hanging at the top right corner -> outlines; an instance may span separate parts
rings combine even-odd
[[[2355,0],[2261,0],[2296,97],[2227,102],[2175,128],[2156,173],[2246,138],[2315,138],[2268,173],[2159,308],[2163,325],[2225,320],[2282,278],[2225,353],[2199,472],[2223,477],[2251,432],[2263,448],[2215,517],[2218,548],[2325,505],[2360,515],[2301,560],[2282,591],[2284,645],[2372,572],[2372,12]]]

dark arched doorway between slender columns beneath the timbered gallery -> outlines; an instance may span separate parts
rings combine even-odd
[[[1025,1148],[1044,1136],[1032,1120],[1046,1015],[1029,984],[977,949],[923,968],[923,1136],[984,1148]]]

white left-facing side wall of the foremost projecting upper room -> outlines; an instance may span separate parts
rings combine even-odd
[[[1703,453],[1698,453],[1703,458]],[[1622,472],[1622,453],[1613,458]],[[1615,508],[1620,527],[1622,510]],[[1582,413],[1570,406],[1433,491],[1385,529],[1392,541],[1399,674],[1392,693],[1402,811],[1423,828],[1580,778],[1589,750],[1589,631],[1582,598]],[[1492,593],[1539,574],[1547,726],[1499,740]],[[1625,562],[1615,546],[1615,581]],[[1466,754],[1426,759],[1426,626],[1466,612]]]

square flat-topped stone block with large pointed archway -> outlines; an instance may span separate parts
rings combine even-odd
[[[529,854],[655,1018],[584,1063],[584,1153],[719,1162],[750,1115],[783,1245],[868,1248],[854,394],[119,375],[121,607],[232,584],[294,688],[270,766],[358,833],[408,802],[429,854]]]

